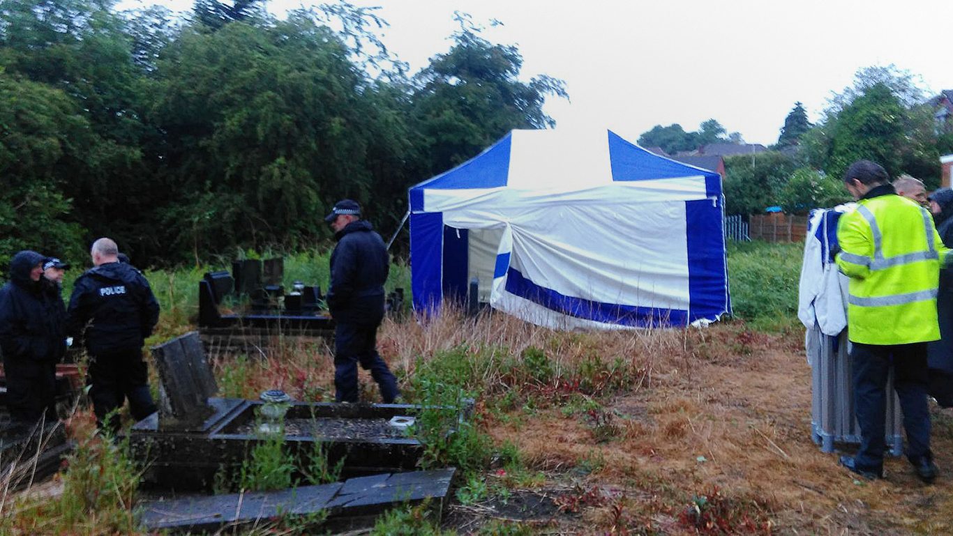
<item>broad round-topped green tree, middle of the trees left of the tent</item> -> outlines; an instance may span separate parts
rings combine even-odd
[[[336,199],[371,197],[370,155],[390,172],[406,130],[394,95],[349,53],[303,11],[264,28],[183,31],[159,62],[152,118],[181,192],[164,209],[187,229],[169,237],[174,248],[295,247],[327,236],[314,221]]]

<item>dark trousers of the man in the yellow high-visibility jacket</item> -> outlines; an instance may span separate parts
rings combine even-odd
[[[926,405],[926,343],[863,345],[851,350],[854,367],[854,407],[861,425],[861,449],[854,461],[864,470],[883,467],[887,375],[894,370],[894,389],[903,410],[907,457],[917,463],[930,453],[930,413]]]

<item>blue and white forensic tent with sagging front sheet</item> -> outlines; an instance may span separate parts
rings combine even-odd
[[[685,326],[730,311],[718,173],[610,130],[513,130],[410,189],[416,310],[478,298],[550,328]]]

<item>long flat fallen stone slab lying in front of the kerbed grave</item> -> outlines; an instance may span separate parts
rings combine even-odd
[[[326,512],[328,526],[369,526],[395,506],[429,501],[439,514],[446,506],[456,468],[358,477],[322,486],[279,491],[147,501],[139,504],[146,530],[190,532],[261,523],[278,517]]]

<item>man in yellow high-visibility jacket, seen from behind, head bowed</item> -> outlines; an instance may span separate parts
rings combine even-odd
[[[929,211],[897,195],[880,165],[855,162],[843,181],[858,200],[838,224],[836,260],[850,278],[847,333],[862,442],[856,456],[841,456],[841,465],[865,478],[883,477],[885,387],[893,370],[907,458],[929,483],[937,467],[930,451],[926,343],[940,338],[937,286],[948,249]]]

